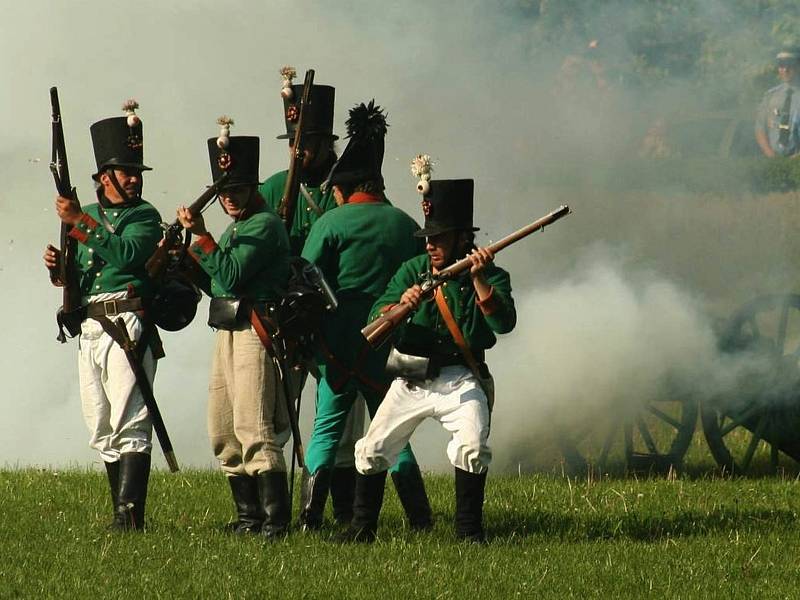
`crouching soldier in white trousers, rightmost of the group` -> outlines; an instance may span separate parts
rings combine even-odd
[[[511,283],[492,253],[474,245],[473,181],[429,181],[428,175],[417,189],[425,227],[415,235],[425,237],[426,254],[403,263],[371,317],[398,302],[415,312],[395,334],[387,374],[396,379],[366,436],[356,442],[359,475],[349,539],[374,539],[386,469],[417,426],[432,417],[452,435],[447,456],[455,467],[456,535],[482,542],[493,394],[484,351],[494,346],[496,333],[516,324]],[[420,283],[465,255],[472,262],[469,271],[436,288],[435,298],[424,297]]]

